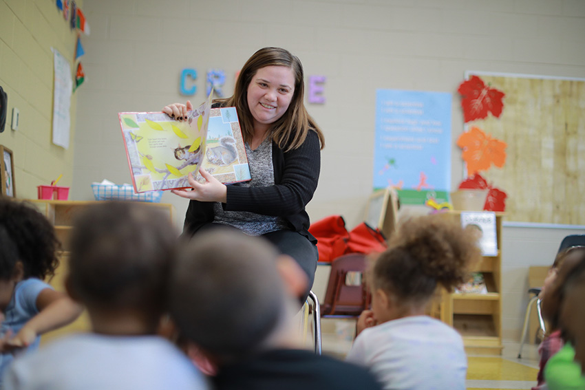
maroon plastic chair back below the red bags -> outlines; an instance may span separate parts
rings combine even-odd
[[[363,283],[365,259],[366,254],[350,253],[332,261],[321,316],[359,316],[370,305],[370,292]]]

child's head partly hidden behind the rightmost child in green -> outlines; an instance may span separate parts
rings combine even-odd
[[[546,321],[549,321],[551,329],[559,328],[563,286],[575,268],[583,261],[585,261],[585,247],[568,248],[556,277],[544,288],[543,294],[540,296],[542,316]]]

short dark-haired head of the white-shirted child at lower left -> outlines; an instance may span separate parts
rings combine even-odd
[[[154,207],[88,206],[74,224],[67,288],[90,316],[92,310],[134,311],[158,321],[166,310],[176,243],[169,217]]]

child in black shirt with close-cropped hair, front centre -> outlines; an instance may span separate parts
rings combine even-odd
[[[171,278],[171,314],[217,367],[217,390],[380,389],[365,369],[299,349],[292,318],[307,278],[259,237],[202,232]]]

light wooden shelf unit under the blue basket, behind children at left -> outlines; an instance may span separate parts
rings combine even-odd
[[[73,223],[76,215],[90,204],[96,204],[98,202],[81,202],[81,201],[66,201],[66,200],[37,200],[31,199],[30,202],[36,208],[49,219],[50,223],[54,226],[55,234],[63,247],[63,252],[59,256],[59,266],[55,270],[54,276],[47,281],[57,291],[65,291],[65,275],[69,266],[69,238],[73,231]],[[149,203],[142,202],[142,204],[158,207],[164,210],[165,213],[169,214],[169,219],[173,221],[175,208],[172,204],[160,204],[160,203]],[[65,334],[75,332],[87,332],[89,330],[89,317],[87,312],[83,312],[74,323],[56,329],[52,332],[48,332],[41,337],[41,343],[47,343],[48,340],[58,338]]]

